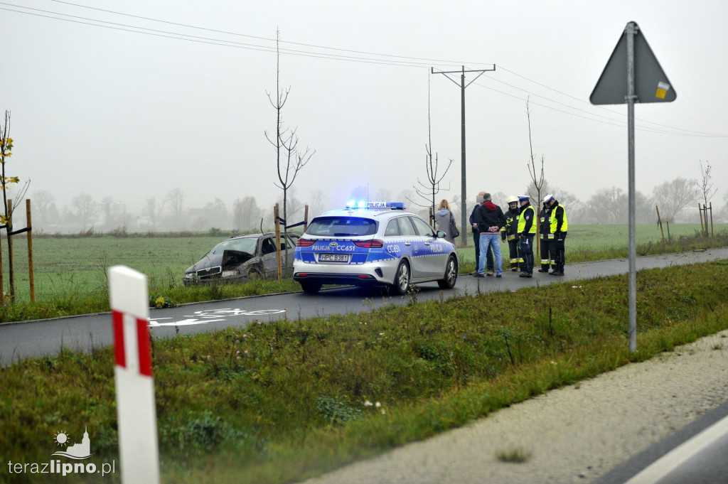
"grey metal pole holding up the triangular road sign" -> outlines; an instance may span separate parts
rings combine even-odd
[[[636,24],[625,28],[627,35],[627,131],[629,151],[629,208],[630,208],[630,353],[637,351],[637,258],[635,223],[635,35]]]

